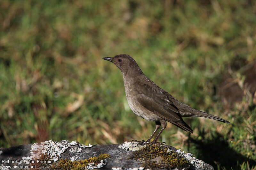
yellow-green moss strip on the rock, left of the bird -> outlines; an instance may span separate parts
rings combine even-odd
[[[71,161],[70,159],[60,159],[58,162],[52,164],[52,166],[49,168],[51,170],[60,170],[60,169],[67,169],[67,170],[79,170],[84,169],[89,163],[94,164],[95,166],[100,163],[103,159],[110,158],[110,155],[107,153],[101,153],[98,157],[91,157],[89,159],[84,160],[76,160]]]

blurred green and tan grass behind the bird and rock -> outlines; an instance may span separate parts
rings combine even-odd
[[[129,54],[185,118],[159,138],[216,169],[256,169],[254,0],[1,0],[0,147],[52,139],[119,144],[155,128],[130,110],[102,57]]]

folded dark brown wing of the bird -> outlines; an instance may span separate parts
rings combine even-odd
[[[179,128],[193,133],[193,130],[182,120],[179,109],[168,99],[167,92],[158,86],[140,83],[137,83],[136,89],[137,101],[143,107]]]

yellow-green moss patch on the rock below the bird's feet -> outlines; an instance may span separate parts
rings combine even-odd
[[[140,160],[145,168],[150,169],[170,169],[170,168],[184,168],[189,163],[179,154],[168,150],[164,145],[147,145],[146,147],[133,152],[130,159]]]

